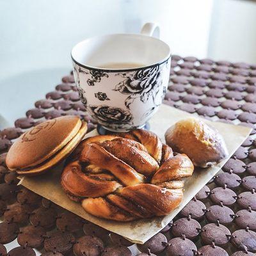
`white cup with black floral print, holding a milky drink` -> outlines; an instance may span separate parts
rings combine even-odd
[[[159,36],[159,27],[146,23],[141,34],[96,36],[72,49],[81,101],[109,131],[142,128],[164,99],[171,52],[153,34]]]

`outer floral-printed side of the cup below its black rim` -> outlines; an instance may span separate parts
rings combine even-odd
[[[136,70],[93,70],[74,63],[77,91],[86,111],[111,131],[143,126],[161,104],[170,59]],[[87,98],[87,99],[86,99]]]

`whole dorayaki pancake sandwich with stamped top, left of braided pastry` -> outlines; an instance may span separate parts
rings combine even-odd
[[[78,116],[47,120],[22,134],[6,156],[10,170],[22,175],[38,175],[65,159],[87,132]]]

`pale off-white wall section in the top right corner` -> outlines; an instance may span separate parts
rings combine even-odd
[[[256,2],[214,0],[209,57],[256,63]]]

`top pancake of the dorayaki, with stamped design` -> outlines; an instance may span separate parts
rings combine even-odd
[[[44,163],[76,136],[81,125],[78,116],[61,116],[36,125],[13,143],[6,165],[20,170]]]

